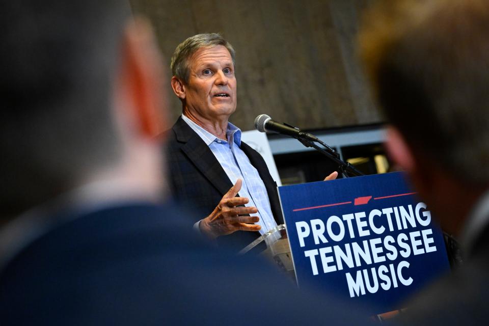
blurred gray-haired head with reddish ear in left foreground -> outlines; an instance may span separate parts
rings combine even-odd
[[[92,181],[156,197],[163,78],[147,25],[116,0],[3,2],[0,18],[0,224]]]

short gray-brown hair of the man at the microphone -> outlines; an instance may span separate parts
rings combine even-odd
[[[213,47],[217,45],[225,46],[231,58],[233,60],[233,65],[235,66],[235,52],[233,46],[226,41],[218,33],[207,33],[207,34],[197,34],[187,38],[182,43],[178,44],[175,52],[172,56],[171,69],[172,74],[177,78],[183,80],[186,84],[188,82],[188,59],[190,59],[197,50],[202,47]]]

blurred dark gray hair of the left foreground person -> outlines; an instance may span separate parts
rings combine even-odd
[[[0,4],[0,223],[120,158],[111,94],[129,17],[121,0]]]

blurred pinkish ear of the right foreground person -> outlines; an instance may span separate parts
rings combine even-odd
[[[385,146],[389,157],[396,165],[410,174],[415,172],[416,161],[411,147],[406,143],[399,130],[393,126],[387,128]]]

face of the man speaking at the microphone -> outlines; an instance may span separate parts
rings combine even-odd
[[[236,110],[236,77],[225,46],[200,48],[189,60],[186,110],[206,120],[227,119]]]

